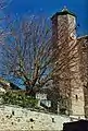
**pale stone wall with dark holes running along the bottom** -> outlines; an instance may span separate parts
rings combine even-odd
[[[70,122],[68,117],[32,111],[15,106],[0,106],[0,130],[56,130],[63,129],[64,122]]]

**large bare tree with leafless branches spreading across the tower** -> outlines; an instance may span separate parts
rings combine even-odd
[[[11,26],[12,35],[3,45],[3,73],[20,78],[30,94],[35,87],[40,88],[53,80],[54,96],[62,96],[63,93],[67,99],[72,90],[71,81],[76,81],[78,73],[78,70],[74,70],[79,60],[78,45],[76,38],[70,35],[75,27],[68,28],[72,23],[64,27],[62,25],[55,40],[55,34],[51,34],[47,22],[43,17],[32,16]]]

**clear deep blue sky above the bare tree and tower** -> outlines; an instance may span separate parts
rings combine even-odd
[[[7,12],[23,15],[27,12],[42,12],[52,16],[64,5],[77,15],[77,23],[80,25],[78,34],[88,34],[88,0],[13,0],[8,7]]]

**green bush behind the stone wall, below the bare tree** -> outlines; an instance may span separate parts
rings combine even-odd
[[[11,104],[11,105],[18,105],[22,107],[37,107],[38,100],[26,96],[23,92],[7,92],[2,95],[2,104]]]

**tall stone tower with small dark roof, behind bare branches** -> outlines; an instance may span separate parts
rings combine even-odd
[[[59,92],[60,110],[84,117],[84,88],[79,71],[79,53],[76,38],[76,16],[66,8],[52,17],[54,86]],[[62,100],[63,99],[63,100]]]

